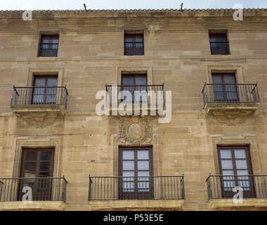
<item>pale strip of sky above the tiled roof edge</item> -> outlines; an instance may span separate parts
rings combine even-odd
[[[267,0],[0,0],[0,10],[130,8],[267,8]]]

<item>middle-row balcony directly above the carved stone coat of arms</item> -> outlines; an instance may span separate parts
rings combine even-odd
[[[164,84],[160,85],[106,85],[107,101],[106,107],[112,111],[126,110],[130,105],[132,115],[134,110],[147,115],[160,115],[165,107]],[[126,104],[124,108],[119,107],[122,101]],[[117,113],[118,115],[119,113]],[[112,113],[112,115],[115,115]],[[145,114],[144,114],[145,115]]]

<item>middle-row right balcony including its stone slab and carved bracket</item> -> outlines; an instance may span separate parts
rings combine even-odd
[[[204,84],[202,95],[206,113],[228,125],[244,122],[260,103],[257,84]]]

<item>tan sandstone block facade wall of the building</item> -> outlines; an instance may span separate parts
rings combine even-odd
[[[22,11],[1,11],[0,177],[20,176],[22,148],[54,147],[53,176],[67,179],[66,203],[43,202],[38,210],[55,210],[56,204],[58,210],[242,209],[229,200],[211,203],[205,181],[220,174],[217,145],[249,145],[253,173],[267,174],[267,10],[245,10],[243,21],[232,15],[230,10],[34,11],[32,21],[24,21]],[[124,30],[143,30],[145,56],[124,56]],[[228,31],[230,55],[211,55],[209,30]],[[37,57],[42,32],[60,35],[58,57]],[[171,122],[148,116],[129,133],[122,129],[133,118],[96,115],[96,92],[120,84],[123,71],[146,72],[149,84],[172,91]],[[240,84],[258,83],[256,109],[234,108],[243,112],[235,122],[207,113],[202,89],[214,71],[235,71]],[[50,108],[47,116],[40,109],[11,108],[13,85],[31,86],[34,72],[57,73],[58,86],[66,85],[69,94],[67,112]],[[185,200],[88,200],[89,174],[117,176],[119,146],[134,145],[152,146],[155,176],[184,174]],[[267,200],[252,199],[245,207],[266,210]],[[0,209],[27,207],[0,203]]]

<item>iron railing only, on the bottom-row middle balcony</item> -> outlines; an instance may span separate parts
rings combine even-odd
[[[89,176],[89,200],[183,200],[184,176]]]

